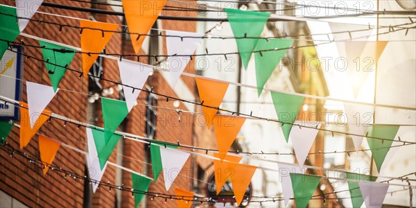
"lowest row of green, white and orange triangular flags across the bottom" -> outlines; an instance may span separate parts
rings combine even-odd
[[[2,127],[4,124],[12,126],[10,123],[3,122],[0,123]],[[1,132],[4,132],[3,130],[4,128],[1,128]],[[112,154],[112,150],[121,136],[113,137],[110,143],[106,145],[102,129],[86,128],[86,133],[88,148],[86,155],[87,166],[89,168],[89,178],[93,181],[92,187],[95,192],[99,185],[98,182],[101,181],[105,168],[107,168],[107,159]],[[2,136],[2,138],[4,137]],[[43,173],[46,175],[49,164],[52,164],[61,145],[59,142],[42,135],[39,135],[38,141],[40,158],[42,163],[45,164]],[[177,150],[176,146],[166,145],[162,141],[155,141],[155,143],[150,144],[150,155],[154,179],[145,175],[131,173],[135,207],[138,207],[141,200],[146,196],[146,191],[148,191],[151,182],[153,180],[154,182],[157,181],[157,177],[162,170],[164,171],[166,191],[171,189],[171,185],[187,162],[190,153]],[[257,167],[241,164],[242,157],[236,155],[225,155],[223,161],[218,158],[218,153],[214,153],[214,157],[216,158],[214,159],[216,193],[220,193],[225,182],[230,181],[236,203],[239,205]],[[278,163],[278,166],[285,205],[294,197],[297,207],[306,207],[309,200],[313,198],[318,184],[321,182],[321,176],[305,175],[306,168],[300,168],[294,164]],[[232,174],[229,174],[229,171],[232,171]],[[381,207],[389,184],[375,182],[376,177],[358,173],[346,173],[345,179],[347,180],[353,207],[361,207],[364,202],[367,207]],[[175,187],[175,195],[180,196],[177,197],[180,198],[177,199],[178,207],[191,207],[192,203],[189,201],[192,201],[193,196],[195,196],[193,192],[177,187]]]

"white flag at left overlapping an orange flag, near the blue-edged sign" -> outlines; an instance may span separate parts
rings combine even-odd
[[[55,96],[58,91],[59,88],[55,92],[53,91],[53,87],[26,82],[31,128],[33,128],[37,119],[45,110],[45,107],[51,102],[53,96]]]

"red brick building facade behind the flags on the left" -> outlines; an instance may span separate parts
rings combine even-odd
[[[104,6],[94,3],[85,3],[79,1],[45,1],[51,3],[59,3],[62,5],[75,6],[78,8],[97,8],[100,10],[112,10],[110,6]],[[1,4],[15,6],[15,1],[1,1]],[[78,17],[81,19],[92,19],[96,21],[103,21],[113,24],[123,24],[123,17],[114,15],[97,15],[89,12],[80,12],[74,10],[65,10],[60,8],[51,8],[41,6],[40,12],[54,13],[69,17]],[[178,11],[162,12],[163,15],[184,15]],[[187,12],[187,16],[196,16],[196,12]],[[33,16],[33,19],[42,19],[45,21],[53,21],[58,24],[67,24],[78,26],[79,20],[69,19],[65,17],[55,17],[51,15],[45,15],[37,13]],[[158,20],[155,28],[163,28],[175,31],[196,31],[196,22],[194,21],[169,21]],[[121,31],[121,27],[118,29]],[[38,24],[35,21],[31,21],[24,33],[42,37],[47,40],[53,40],[63,44],[80,47],[80,31],[76,28],[64,27],[62,32],[59,31],[59,26],[51,24]],[[121,33],[114,33],[112,40],[107,44],[105,50],[107,53],[134,53],[128,35]],[[19,36],[16,41],[23,40],[26,44],[38,45],[37,40],[31,38]],[[148,40],[149,44],[144,46],[149,47],[146,49],[147,53],[159,53],[166,54],[166,43],[164,38],[156,38]],[[155,44],[162,49],[162,51],[155,51]],[[162,46],[162,47],[161,47]],[[143,48],[142,48],[143,49]],[[145,51],[141,51],[141,54],[146,54]],[[42,52],[40,49],[33,47],[24,47],[24,53],[42,59]],[[133,59],[137,60],[137,59]],[[141,62],[150,62],[153,60],[144,60],[141,58]],[[99,60],[98,60],[99,62]],[[97,62],[97,63],[98,63]],[[81,71],[82,69],[81,55],[78,53],[71,62],[70,68]],[[99,63],[98,63],[99,64]],[[187,72],[194,73],[193,65],[195,63],[191,61]],[[115,60],[103,59],[101,62],[103,67],[102,77],[119,81],[119,69]],[[71,119],[87,122],[97,126],[103,126],[101,102],[98,99],[94,103],[89,103],[89,94],[102,94],[103,89],[109,89],[112,87],[114,94],[110,94],[108,98],[119,99],[121,94],[117,89],[117,86],[113,83],[105,81],[99,81],[101,87],[96,87],[94,80],[86,78],[78,78],[79,73],[73,71],[67,71],[64,78],[60,83],[61,90],[56,94],[53,101],[46,107],[55,114],[67,116]],[[24,59],[24,81],[30,81],[33,83],[40,83],[42,85],[51,85],[44,62],[36,61],[33,59]],[[188,87],[190,92],[195,96],[198,101],[197,90],[195,81],[193,78],[182,76],[183,83]],[[161,73],[155,71],[152,76],[149,77],[147,87],[153,87],[154,92],[166,94],[168,96],[178,97],[175,94],[175,90],[168,85],[165,78]],[[84,94],[73,93],[69,91],[83,92]],[[125,121],[123,121],[119,130],[123,132],[129,132],[135,135],[146,135],[146,112],[149,112],[146,107],[146,102],[150,98],[153,99],[153,104],[157,101],[158,107],[174,108],[173,103],[175,101],[169,100],[166,102],[164,98],[149,97],[146,92],[142,92],[138,98],[138,105],[128,114]],[[23,101],[26,99],[26,84],[23,89]],[[184,103],[180,103],[177,109],[184,109],[189,111],[201,112],[200,107],[195,109],[187,109]],[[157,113],[155,123],[155,135],[154,139],[161,141],[169,141],[180,144],[187,144],[192,146],[204,146],[208,148],[216,148],[215,139],[213,137],[212,129],[208,131],[205,126],[196,125],[194,120],[195,116],[192,114],[181,114],[182,122],[178,122],[177,112],[171,110],[163,110],[161,108],[153,109],[153,112]],[[150,111],[152,112],[152,111]],[[24,118],[28,119],[28,118]],[[16,121],[19,123],[19,121]],[[64,125],[63,121],[52,120],[50,123],[45,123],[40,128],[39,133],[62,141],[64,144],[76,147],[80,150],[87,150],[86,148],[86,135],[85,128],[77,128],[76,125]],[[8,144],[12,148],[19,148],[19,128],[13,127],[8,139]],[[37,136],[33,137],[31,143],[23,150],[27,155],[31,155],[40,158],[38,150]],[[13,198],[21,202],[21,204],[27,207],[134,207],[135,201],[132,198],[131,193],[123,192],[119,190],[110,191],[106,187],[100,187],[96,193],[92,193],[91,185],[84,180],[73,179],[72,177],[64,177],[62,173],[56,173],[49,170],[46,175],[42,175],[42,169],[37,165],[31,164],[20,157],[15,155],[10,157],[10,153],[6,150],[0,149],[0,190],[2,191],[2,202],[6,203],[4,199]],[[139,173],[144,173],[149,177],[152,177],[151,164],[150,164],[150,152],[147,145],[131,141],[128,139],[120,139],[119,144],[114,149],[110,162],[114,162],[126,168],[130,168]],[[184,165],[180,173],[180,179],[174,182],[173,187],[186,189],[189,191],[198,191],[196,189],[198,182],[195,178],[198,178],[198,170],[204,171],[209,168],[209,163],[205,159],[196,159],[191,156]],[[54,166],[69,169],[79,175],[85,175],[86,161],[85,155],[77,153],[76,151],[64,148],[61,146],[60,150],[53,161]],[[162,173],[163,174],[163,173]],[[162,174],[159,176],[157,183],[150,184],[149,191],[166,193],[164,188],[164,182]],[[103,175],[102,182],[110,182],[111,184],[123,185],[123,187],[132,187],[130,173],[127,171],[121,171],[114,166],[107,166],[105,174]],[[200,191],[198,191],[200,192]],[[168,194],[175,194],[173,189],[167,192]],[[5,204],[6,205],[6,204]],[[9,204],[10,205],[10,204]],[[146,197],[141,202],[141,207],[175,207],[175,200],[165,201],[160,198],[150,200],[150,197]]]

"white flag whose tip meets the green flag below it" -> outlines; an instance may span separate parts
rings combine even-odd
[[[148,79],[150,72],[153,70],[151,66],[141,64],[139,62],[119,61],[120,78],[123,83],[123,92],[125,103],[127,103],[128,111],[132,110],[137,101],[144,83]],[[127,87],[128,85],[131,87]],[[133,88],[138,88],[133,91]]]

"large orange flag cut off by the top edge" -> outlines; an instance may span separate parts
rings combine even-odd
[[[166,0],[123,0],[122,2],[133,49],[138,54],[150,28],[162,12]]]

